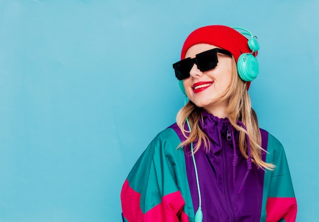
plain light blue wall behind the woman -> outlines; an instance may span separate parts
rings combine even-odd
[[[120,190],[183,96],[172,64],[209,24],[258,37],[249,93],[317,221],[319,2],[0,1],[0,221],[120,221]]]

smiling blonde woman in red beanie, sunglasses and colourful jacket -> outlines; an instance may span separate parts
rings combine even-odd
[[[296,220],[283,147],[251,108],[258,50],[238,27],[205,26],[185,40],[173,68],[189,102],[125,180],[123,221]]]

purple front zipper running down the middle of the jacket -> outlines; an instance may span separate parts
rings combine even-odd
[[[230,130],[228,128],[227,130],[227,136],[226,136],[227,140],[231,140],[231,134],[230,134]],[[224,189],[225,189],[225,196],[226,196],[226,201],[229,207],[229,211],[231,214],[231,221],[234,221],[234,213],[233,213],[233,208],[231,205],[231,201],[230,201],[230,197],[229,197],[229,183],[228,183],[228,161],[227,161],[227,156],[225,157],[225,153],[226,153],[226,147],[225,147],[225,143],[227,141],[225,141],[224,139],[222,139],[222,151],[223,151],[223,163],[224,163]]]

